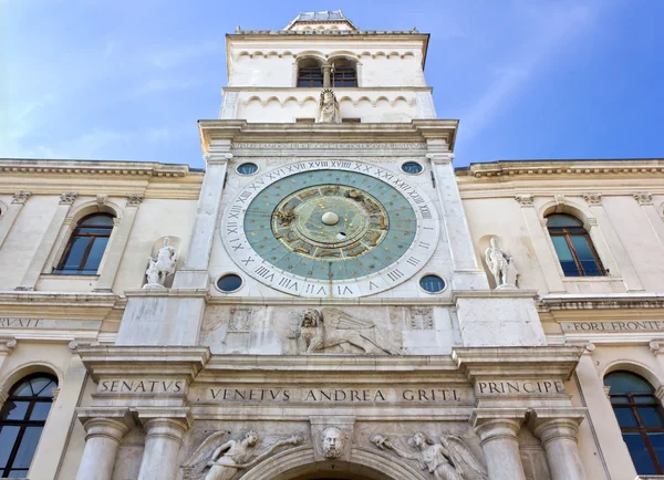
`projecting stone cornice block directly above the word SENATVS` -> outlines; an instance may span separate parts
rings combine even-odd
[[[203,346],[81,346],[76,347],[95,380],[118,376],[184,376],[191,382],[210,358]]]

